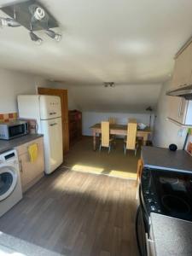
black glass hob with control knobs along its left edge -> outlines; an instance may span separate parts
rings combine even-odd
[[[192,221],[192,173],[145,168],[142,193],[148,213]]]

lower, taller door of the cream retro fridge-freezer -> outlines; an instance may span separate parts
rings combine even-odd
[[[44,133],[45,173],[54,172],[63,161],[61,118],[41,120]]]

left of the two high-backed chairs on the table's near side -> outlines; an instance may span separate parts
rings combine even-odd
[[[100,138],[99,150],[101,151],[102,147],[108,148],[108,153],[110,153],[113,137],[110,137],[110,134],[109,134],[109,122],[102,122],[101,127],[102,127],[102,137]]]

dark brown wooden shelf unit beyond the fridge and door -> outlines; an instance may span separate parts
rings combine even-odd
[[[70,145],[82,137],[82,113],[78,110],[68,112]]]

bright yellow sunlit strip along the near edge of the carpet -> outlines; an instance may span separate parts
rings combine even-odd
[[[94,173],[94,174],[103,174],[108,175],[110,177],[121,177],[136,180],[137,174],[133,172],[123,172],[120,170],[105,170],[104,168],[98,168],[95,166],[83,166],[83,165],[74,165],[71,169],[75,172],[87,172],[87,173]]]

